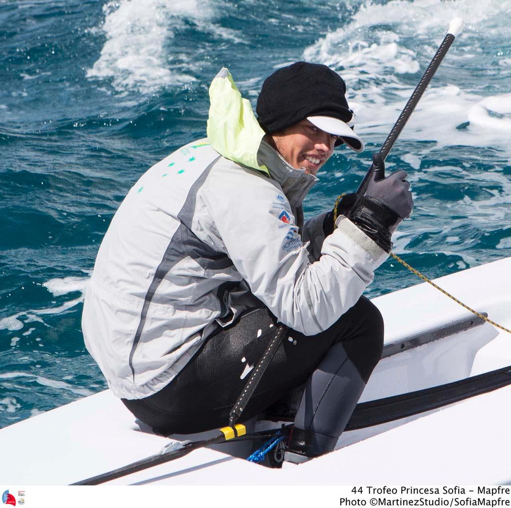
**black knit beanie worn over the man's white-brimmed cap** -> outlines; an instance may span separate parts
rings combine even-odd
[[[344,97],[344,80],[326,65],[296,62],[268,76],[256,111],[266,133],[281,131],[311,116],[349,122],[353,111]]]

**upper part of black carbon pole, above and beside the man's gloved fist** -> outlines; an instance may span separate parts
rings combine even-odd
[[[389,154],[390,150],[394,146],[394,143],[396,143],[396,140],[398,139],[399,135],[401,134],[401,131],[403,130],[403,127],[406,125],[406,122],[408,122],[408,119],[410,118],[413,110],[415,109],[415,106],[421,99],[421,97],[424,94],[424,91],[428,87],[429,82],[431,81],[431,78],[434,76],[438,66],[440,63],[442,63],[442,60],[446,56],[447,52],[449,51],[449,48],[451,47],[451,44],[453,43],[455,39],[455,36],[451,33],[448,33],[444,40],[442,41],[442,44],[440,44],[438,50],[435,53],[435,56],[431,60],[430,64],[428,65],[428,68],[426,69],[426,72],[423,74],[421,81],[419,81],[419,84],[415,87],[415,90],[413,90],[413,94],[408,99],[408,102],[406,103],[403,111],[401,111],[401,114],[392,127],[392,130],[390,131],[389,135],[387,136],[387,139],[383,143],[382,147],[380,148],[380,154],[385,160],[387,158],[387,155]],[[369,183],[369,176],[371,172],[373,172],[374,166],[371,164],[371,167],[367,171],[366,175],[364,176],[364,179],[360,183],[359,188],[357,189],[357,194],[359,197],[362,197],[365,194],[365,191],[367,190],[367,185]]]

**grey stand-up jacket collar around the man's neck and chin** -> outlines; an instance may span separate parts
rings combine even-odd
[[[303,169],[293,168],[280,153],[264,140],[257,154],[258,164],[266,166],[270,177],[280,186],[291,206],[299,206],[311,187],[318,180]]]

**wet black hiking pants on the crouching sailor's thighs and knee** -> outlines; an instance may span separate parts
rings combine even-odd
[[[122,400],[136,418],[158,434],[190,434],[224,427],[276,326],[276,318],[268,309],[250,311],[208,337],[182,371],[156,394]],[[342,344],[343,361],[347,356],[365,384],[381,357],[383,319],[364,296],[324,332],[306,336],[287,331],[241,421],[264,411],[308,379],[314,383],[312,375],[322,360],[322,364],[335,362],[328,353],[338,343]],[[332,352],[335,349],[339,347],[332,348]],[[356,395],[355,404],[359,396]],[[352,410],[349,408],[350,414]]]

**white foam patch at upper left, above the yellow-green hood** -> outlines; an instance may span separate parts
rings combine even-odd
[[[196,48],[172,51],[172,39],[190,25],[217,38],[241,42],[235,31],[215,25],[207,0],[118,0],[104,7],[101,55],[88,78],[111,79],[119,91],[151,93],[160,87],[195,81]],[[192,71],[192,72],[190,72]]]

